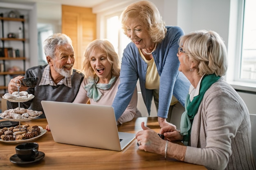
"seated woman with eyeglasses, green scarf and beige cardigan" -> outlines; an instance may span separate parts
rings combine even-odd
[[[211,170],[255,170],[249,111],[222,77],[227,49],[214,31],[196,31],[180,38],[179,71],[191,82],[180,130],[173,126],[136,134],[139,149],[199,164]],[[183,141],[184,145],[169,141]]]

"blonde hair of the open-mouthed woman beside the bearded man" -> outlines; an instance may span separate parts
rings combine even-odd
[[[96,77],[96,73],[93,71],[90,64],[91,53],[96,48],[99,48],[106,53],[108,62],[112,64],[111,75],[119,77],[120,63],[118,55],[115,52],[114,46],[105,39],[97,39],[88,44],[84,53],[85,59],[83,61],[83,71],[85,73],[85,77]]]

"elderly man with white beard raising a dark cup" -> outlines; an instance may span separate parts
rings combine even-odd
[[[18,91],[16,85],[21,85],[20,91],[35,96],[28,102],[20,103],[20,107],[43,111],[42,100],[73,102],[79,91],[84,75],[73,69],[75,55],[72,40],[63,33],[55,33],[45,40],[44,52],[47,65],[29,68],[25,76],[19,75],[9,82],[9,93]],[[34,88],[27,88],[16,81],[19,79],[22,82],[24,77],[39,77],[39,83]],[[7,109],[17,107],[18,103],[7,101]],[[44,113],[39,118],[45,118]]]

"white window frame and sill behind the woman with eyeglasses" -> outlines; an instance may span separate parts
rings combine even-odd
[[[230,1],[227,82],[236,90],[256,92],[256,81],[240,78],[245,0]]]

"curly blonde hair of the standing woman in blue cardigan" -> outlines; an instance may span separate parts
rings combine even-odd
[[[142,0],[130,4],[121,14],[121,24],[124,34],[128,18],[140,18],[146,25],[146,30],[153,42],[159,43],[165,37],[166,27],[157,7],[152,2]]]

